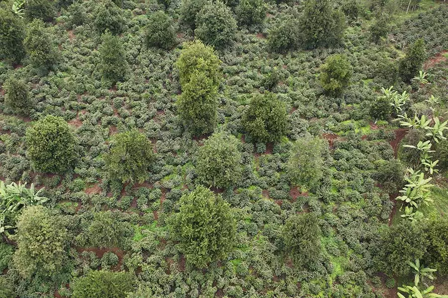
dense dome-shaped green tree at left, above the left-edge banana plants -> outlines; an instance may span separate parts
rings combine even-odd
[[[47,115],[26,130],[27,155],[41,172],[61,173],[78,157],[77,140],[61,117]]]

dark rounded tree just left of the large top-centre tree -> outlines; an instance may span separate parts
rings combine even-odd
[[[149,15],[146,27],[146,44],[150,47],[171,49],[176,44],[173,20],[163,11]]]

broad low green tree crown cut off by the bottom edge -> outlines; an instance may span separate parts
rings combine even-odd
[[[134,278],[127,272],[90,271],[70,288],[71,298],[125,298],[134,290]]]

